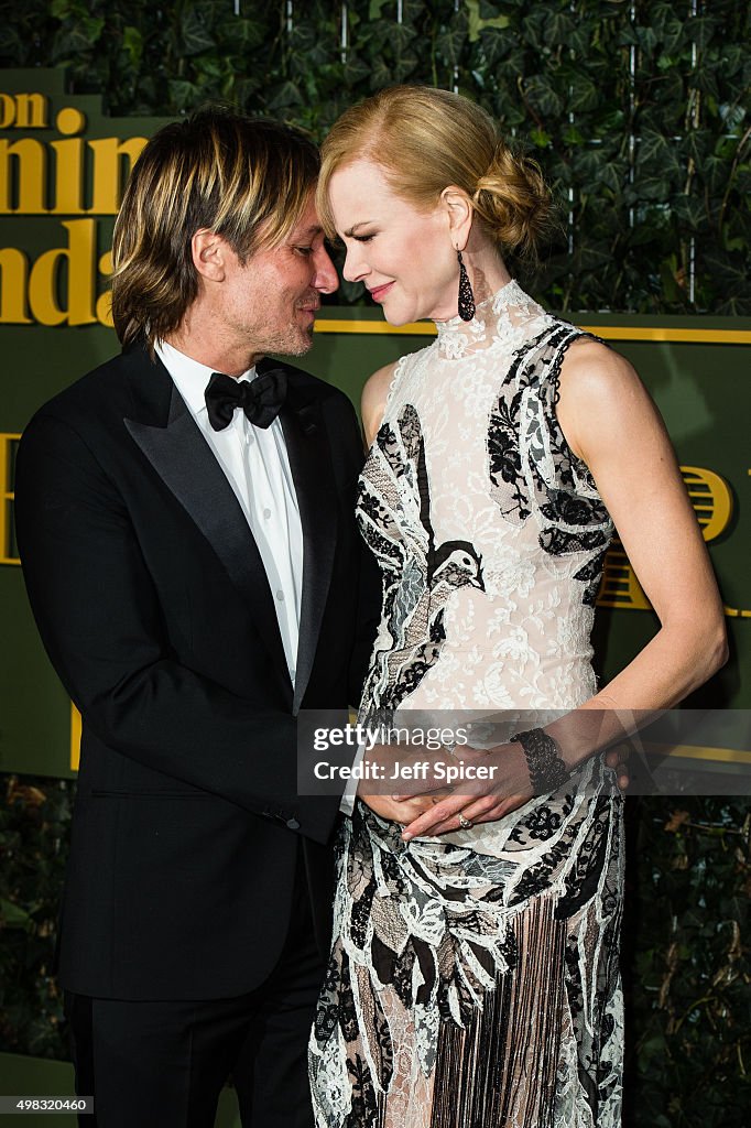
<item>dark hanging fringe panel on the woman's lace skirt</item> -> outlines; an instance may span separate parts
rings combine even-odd
[[[462,1030],[443,1020],[431,1128],[553,1128],[566,922],[536,898],[514,922],[519,962]]]

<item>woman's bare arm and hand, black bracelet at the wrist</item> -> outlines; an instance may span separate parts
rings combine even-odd
[[[723,605],[664,423],[631,365],[594,341],[574,344],[560,376],[558,422],[598,491],[660,619],[654,638],[590,700],[546,726],[575,769],[622,734],[618,711],[670,708],[727,659]],[[586,711],[597,711],[587,719]],[[452,795],[407,828],[409,836],[456,828],[457,814],[492,821],[531,795],[519,744],[498,757],[503,790]],[[504,797],[510,796],[510,797]],[[502,800],[500,803],[498,800]],[[430,820],[430,822],[428,822]]]

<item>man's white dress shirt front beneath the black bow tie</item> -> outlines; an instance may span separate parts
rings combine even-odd
[[[214,431],[204,399],[213,369],[164,341],[157,344],[157,354],[227,475],[250,526],[266,570],[294,686],[302,596],[302,527],[281,421],[277,416],[264,430],[254,426],[245,412],[237,409],[228,426]],[[255,376],[251,368],[239,379],[253,380]]]

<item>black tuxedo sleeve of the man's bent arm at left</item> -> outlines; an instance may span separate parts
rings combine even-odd
[[[157,772],[326,841],[337,800],[298,795],[295,719],[175,660],[118,491],[50,414],[19,446],[16,527],[42,640],[87,726]]]

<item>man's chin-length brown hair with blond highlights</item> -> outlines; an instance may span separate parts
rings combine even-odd
[[[123,344],[175,331],[198,293],[192,239],[207,228],[241,263],[302,217],[318,150],[298,130],[198,111],[159,130],[139,157],[115,223],[112,311]]]

